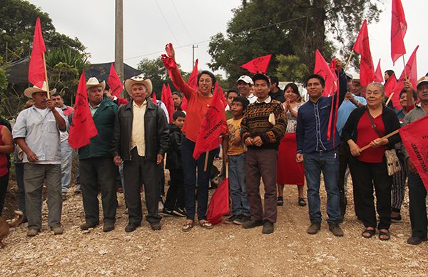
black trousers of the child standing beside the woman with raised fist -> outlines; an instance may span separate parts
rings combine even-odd
[[[165,208],[184,208],[184,176],[183,168],[170,169],[170,186],[165,199]]]

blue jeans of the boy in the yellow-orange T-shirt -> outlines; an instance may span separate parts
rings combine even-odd
[[[250,216],[245,184],[245,153],[229,157],[229,189],[232,198],[232,214]]]

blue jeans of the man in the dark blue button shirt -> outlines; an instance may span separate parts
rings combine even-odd
[[[336,150],[305,153],[305,176],[307,182],[307,202],[309,218],[312,223],[322,221],[320,211],[320,182],[321,171],[324,176],[325,190],[327,191],[328,223],[339,223],[340,195],[337,188],[339,178],[339,155]]]

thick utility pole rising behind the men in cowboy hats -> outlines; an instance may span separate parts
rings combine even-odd
[[[115,19],[114,69],[123,81],[123,0],[116,0]]]

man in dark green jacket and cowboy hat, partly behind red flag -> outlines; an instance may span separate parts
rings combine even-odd
[[[78,149],[81,190],[86,222],[81,225],[82,230],[94,228],[99,223],[98,187],[101,188],[101,203],[103,206],[103,231],[114,229],[116,222],[116,168],[112,161],[110,150],[112,147],[114,118],[118,106],[107,96],[103,96],[106,82],[99,82],[92,77],[86,82],[88,91],[89,109],[93,122],[98,131],[87,146]]]

